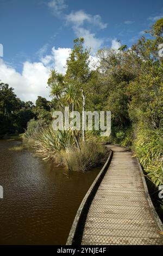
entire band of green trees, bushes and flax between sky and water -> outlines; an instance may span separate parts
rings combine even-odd
[[[134,150],[155,185],[163,183],[163,19],[131,48],[102,48],[92,67],[84,39],[74,40],[66,74],[51,70],[47,81],[51,101],[38,96],[36,103],[18,99],[8,84],[0,84],[0,133],[24,133],[46,160],[87,170],[105,161],[105,149],[97,142],[119,143]],[[46,90],[46,84],[45,84]],[[83,103],[85,102],[85,103]],[[69,106],[82,113],[111,111],[111,135],[99,131],[53,131],[52,113]]]

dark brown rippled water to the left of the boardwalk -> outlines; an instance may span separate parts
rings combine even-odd
[[[65,245],[74,216],[99,169],[72,173],[12,150],[21,141],[0,140],[1,245]]]

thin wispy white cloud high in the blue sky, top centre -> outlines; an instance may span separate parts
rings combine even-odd
[[[76,12],[72,11],[70,14],[66,15],[66,21],[71,22],[76,26],[83,26],[84,22],[86,21],[91,25],[95,25],[101,29],[107,27],[107,24],[102,22],[100,15],[92,16],[90,14],[86,14],[83,10]]]

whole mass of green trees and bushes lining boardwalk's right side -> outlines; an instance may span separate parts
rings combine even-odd
[[[163,59],[158,47],[162,28],[160,19],[147,32],[151,37],[142,36],[131,49],[104,48],[97,54],[104,108],[111,111],[109,141],[132,147],[156,185],[162,182]]]

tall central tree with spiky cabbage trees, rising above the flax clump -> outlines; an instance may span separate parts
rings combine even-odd
[[[86,106],[92,107],[91,98],[95,99],[94,84],[97,86],[97,72],[90,69],[90,50],[84,48],[84,39],[74,40],[74,47],[67,59],[65,76],[51,70],[48,86],[51,96],[59,102],[60,109],[70,106],[73,110],[82,111],[82,89],[86,95]],[[96,88],[99,91],[99,88]],[[96,94],[97,96],[97,94]],[[96,100],[96,99],[95,99]],[[101,105],[102,105],[102,99]]]

